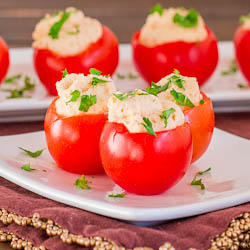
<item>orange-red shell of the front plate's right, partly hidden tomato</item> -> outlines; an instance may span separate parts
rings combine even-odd
[[[193,138],[192,162],[198,160],[207,150],[214,130],[214,111],[210,98],[204,93],[204,104],[184,111]]]

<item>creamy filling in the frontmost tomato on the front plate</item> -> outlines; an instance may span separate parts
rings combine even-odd
[[[156,96],[135,90],[124,100],[116,96],[117,92],[108,101],[108,119],[110,122],[122,123],[131,133],[147,132],[144,118],[152,123],[155,132],[175,129],[184,124],[185,118],[178,105],[169,100],[161,100]],[[133,93],[133,92],[130,92]]]

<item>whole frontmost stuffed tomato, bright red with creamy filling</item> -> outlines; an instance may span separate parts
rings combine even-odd
[[[141,90],[116,93],[100,140],[107,175],[128,192],[160,194],[176,184],[192,157],[192,136],[175,103]]]

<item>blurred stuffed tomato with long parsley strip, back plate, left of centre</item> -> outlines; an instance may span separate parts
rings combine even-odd
[[[33,61],[37,75],[51,95],[61,72],[88,74],[98,68],[112,75],[119,60],[118,40],[96,19],[74,8],[46,16],[33,32]]]

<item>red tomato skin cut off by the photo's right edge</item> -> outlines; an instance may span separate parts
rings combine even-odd
[[[243,75],[250,85],[250,30],[240,26],[234,35],[236,60]]]

